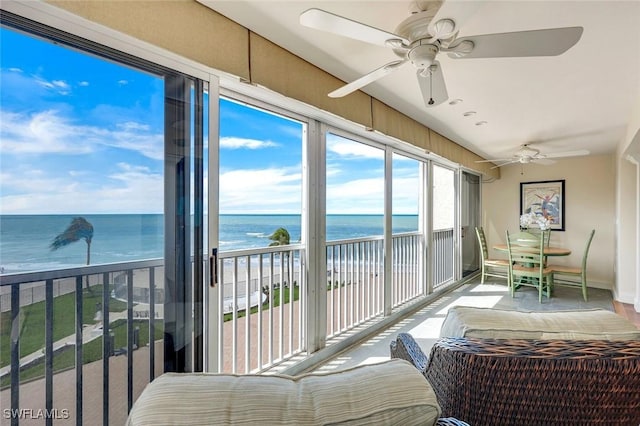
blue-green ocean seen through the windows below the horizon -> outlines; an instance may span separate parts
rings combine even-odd
[[[0,215],[2,273],[46,271],[82,266],[87,261],[84,240],[52,251],[50,244],[74,215]],[[93,225],[92,265],[158,259],[164,255],[164,225],[160,214],[83,215]],[[300,215],[221,215],[219,249],[267,247],[277,228],[300,240]],[[418,217],[393,217],[393,232],[418,229]],[[328,215],[327,240],[382,235],[382,215]]]

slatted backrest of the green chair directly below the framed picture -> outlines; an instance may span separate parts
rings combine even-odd
[[[507,232],[509,252],[509,274],[536,277],[544,269],[544,235],[535,236],[526,232]],[[514,270],[514,264],[528,266],[529,270]]]

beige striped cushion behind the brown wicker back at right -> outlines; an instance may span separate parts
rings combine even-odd
[[[640,330],[606,309],[519,312],[454,306],[442,324],[440,337],[639,340]]]

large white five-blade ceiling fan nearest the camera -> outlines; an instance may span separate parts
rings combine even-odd
[[[414,1],[410,7],[411,16],[402,21],[393,33],[321,9],[303,12],[300,23],[306,27],[388,47],[399,57],[334,90],[329,96],[339,98],[348,95],[411,63],[417,69],[425,105],[432,107],[448,99],[442,68],[436,60],[440,52],[446,52],[454,59],[556,56],[571,48],[582,36],[582,27],[564,27],[458,37],[453,19],[443,18],[434,22],[442,2]]]

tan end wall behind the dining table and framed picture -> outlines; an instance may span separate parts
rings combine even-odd
[[[565,180],[565,231],[551,233],[551,244],[572,253],[554,263],[578,266],[591,229],[596,233],[589,251],[589,285],[613,289],[615,265],[615,156],[600,155],[559,160],[553,165],[502,167],[501,178],[482,185],[482,225],[489,244],[504,242],[505,231],[517,230],[520,182]],[[524,174],[521,174],[521,171]],[[496,251],[494,257],[504,257]]]

